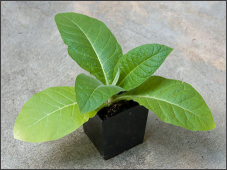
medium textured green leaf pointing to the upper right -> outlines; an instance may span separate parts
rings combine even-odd
[[[130,50],[117,63],[121,74],[118,86],[129,91],[145,82],[172,52],[172,48],[160,44],[145,44]]]

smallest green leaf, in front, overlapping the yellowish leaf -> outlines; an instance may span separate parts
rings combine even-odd
[[[80,74],[76,78],[75,92],[81,113],[97,109],[111,96],[122,91],[121,87],[103,85],[99,80]]]

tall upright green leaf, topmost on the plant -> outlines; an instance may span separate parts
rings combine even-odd
[[[103,84],[111,84],[114,67],[123,53],[107,26],[73,12],[57,14],[55,22],[72,59]]]

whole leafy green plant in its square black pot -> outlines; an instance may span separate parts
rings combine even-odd
[[[18,115],[14,137],[52,141],[83,125],[105,159],[143,142],[148,109],[162,121],[191,131],[214,129],[210,109],[189,84],[152,74],[172,48],[145,44],[123,55],[101,21],[59,13],[55,22],[70,57],[91,75],[75,87],[51,87],[32,96]]]

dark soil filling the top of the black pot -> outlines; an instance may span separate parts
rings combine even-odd
[[[99,115],[99,117],[102,120],[106,120],[109,119],[110,117],[123,112],[133,106],[137,106],[138,103],[134,102],[133,100],[121,100],[117,103],[113,103],[112,105],[110,105],[109,107],[103,107],[102,109],[99,110],[99,112],[97,113]]]

